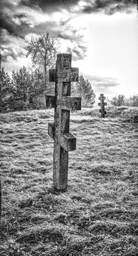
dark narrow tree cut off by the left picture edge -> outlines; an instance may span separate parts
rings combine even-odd
[[[4,68],[0,70],[0,113],[10,109],[11,79]]]

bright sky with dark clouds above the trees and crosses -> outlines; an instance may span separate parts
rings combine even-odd
[[[72,54],[72,67],[97,95],[138,93],[136,0],[1,0],[1,65],[6,72],[31,66],[31,36],[50,32],[59,52]]]

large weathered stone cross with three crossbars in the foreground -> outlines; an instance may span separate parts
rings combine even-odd
[[[69,132],[70,110],[81,109],[81,98],[71,97],[71,82],[78,81],[78,68],[71,67],[71,54],[57,54],[56,68],[49,70],[50,82],[55,82],[55,95],[46,96],[46,108],[55,108],[54,123],[48,124],[48,134],[54,140],[53,187],[67,188],[69,151],[76,150],[76,137]]]

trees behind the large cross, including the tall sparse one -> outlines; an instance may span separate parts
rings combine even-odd
[[[0,112],[46,108],[46,94],[55,94],[54,83],[48,81],[48,68],[55,67],[59,45],[49,33],[31,38],[27,55],[31,55],[32,68],[13,70],[11,77],[0,70]],[[72,96],[82,97],[83,106],[93,106],[95,93],[83,76],[72,84]]]

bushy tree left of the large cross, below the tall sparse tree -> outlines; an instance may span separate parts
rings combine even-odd
[[[38,108],[34,99],[45,92],[43,73],[41,70],[22,67],[12,72],[12,92],[15,110]],[[38,100],[37,100],[38,101]]]

